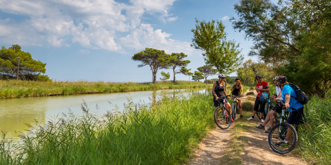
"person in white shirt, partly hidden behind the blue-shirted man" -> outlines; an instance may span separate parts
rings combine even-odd
[[[271,96],[271,98],[273,98],[273,101],[280,101],[280,102],[283,102],[283,98],[281,96],[281,89],[278,85],[278,82],[276,81],[278,77],[275,77],[273,78],[273,83],[275,83],[275,86],[276,86],[276,94],[275,96]],[[259,128],[259,129],[265,129],[265,125],[269,122],[270,120],[270,127],[264,131],[265,133],[269,133],[270,132],[270,129],[273,127],[274,125],[274,115],[276,113],[280,114],[282,112],[282,107],[279,105],[279,104],[276,104],[275,107],[272,108],[272,111],[270,111],[268,113],[268,115],[265,117],[265,120],[264,120],[264,123],[260,124],[259,126],[255,126],[256,128]]]

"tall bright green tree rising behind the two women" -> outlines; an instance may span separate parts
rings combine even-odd
[[[195,29],[191,47],[202,50],[207,65],[217,69],[219,73],[229,74],[235,71],[243,59],[239,44],[234,40],[226,40],[225,26],[221,21],[206,22],[195,19]]]

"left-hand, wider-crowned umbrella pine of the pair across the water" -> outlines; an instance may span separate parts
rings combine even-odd
[[[156,84],[156,73],[159,69],[166,68],[169,65],[169,55],[164,50],[158,50],[153,48],[146,48],[139,53],[132,56],[134,61],[140,61],[142,64],[138,65],[138,68],[145,65],[150,66],[153,75],[153,83]]]

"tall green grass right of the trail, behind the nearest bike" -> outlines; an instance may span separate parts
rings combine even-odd
[[[331,164],[331,91],[325,97],[310,97],[308,113],[304,110],[309,126],[298,129],[298,150],[313,164]]]

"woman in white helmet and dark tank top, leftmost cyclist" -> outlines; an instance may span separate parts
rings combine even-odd
[[[221,104],[220,100],[218,100],[218,97],[221,97],[221,96],[226,96],[226,87],[225,87],[225,75],[224,74],[219,74],[218,75],[218,81],[214,82],[213,84],[213,101],[214,101],[214,106],[215,106],[215,109]],[[218,84],[218,87],[217,89],[216,86]],[[230,106],[230,103],[229,101],[227,101],[226,98],[225,99],[225,106],[228,110],[231,111],[231,106]],[[231,112],[230,112],[230,116],[231,116]],[[234,122],[233,119],[231,118],[231,122]]]

